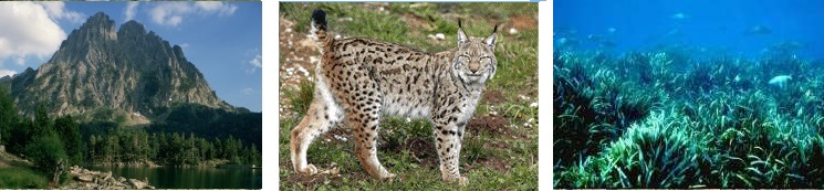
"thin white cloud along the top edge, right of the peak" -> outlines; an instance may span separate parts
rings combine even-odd
[[[226,2],[164,2],[156,3],[149,11],[152,21],[161,25],[177,26],[184,22],[185,17],[194,13],[202,15],[218,14],[220,17],[234,14],[238,7]]]

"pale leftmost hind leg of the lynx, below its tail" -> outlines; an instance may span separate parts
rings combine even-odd
[[[342,115],[340,114],[340,107],[334,102],[326,102],[323,93],[320,91],[323,89],[315,91],[315,98],[312,100],[306,116],[303,117],[301,124],[292,129],[290,140],[292,165],[294,166],[294,170],[300,173],[317,173],[317,168],[306,161],[306,150],[317,136],[334,128],[341,121]]]

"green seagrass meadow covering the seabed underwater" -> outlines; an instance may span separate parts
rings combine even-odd
[[[824,189],[824,62],[691,55],[554,52],[553,187]]]

